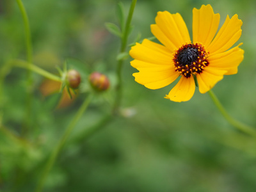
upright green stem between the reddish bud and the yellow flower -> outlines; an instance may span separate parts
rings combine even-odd
[[[125,49],[127,47],[127,40],[128,40],[128,36],[129,36],[129,30],[131,28],[131,20],[132,20],[132,15],[133,15],[133,12],[134,12],[136,2],[137,2],[137,0],[132,0],[131,6],[130,6],[129,14],[128,14],[126,24],[125,24],[124,33],[122,35],[122,42],[121,42],[120,52],[125,52]],[[117,63],[117,68],[116,68],[116,76],[117,76],[117,79],[118,79],[118,83],[117,83],[117,86],[116,86],[116,100],[115,100],[115,104],[114,104],[114,108],[113,108],[114,113],[118,113],[118,108],[120,106],[121,97],[122,97],[122,68],[123,68],[123,63],[124,63],[124,60],[119,60],[118,63]]]

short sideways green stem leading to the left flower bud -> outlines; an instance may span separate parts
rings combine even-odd
[[[47,72],[46,70],[39,68],[36,65],[31,65],[31,63],[28,63],[26,61],[14,60],[12,61],[12,65],[14,65],[15,67],[21,67],[21,68],[26,68],[28,70],[32,70],[33,72],[36,72],[37,74],[40,74],[41,76],[44,76],[47,79],[61,82],[61,77],[54,76],[53,74]]]

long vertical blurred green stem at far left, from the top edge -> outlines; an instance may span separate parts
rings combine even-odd
[[[22,3],[21,0],[16,0],[20,13],[22,15],[22,19],[24,22],[24,29],[25,29],[25,38],[26,38],[26,53],[27,53],[27,61],[28,63],[31,63],[32,65],[32,43],[31,43],[31,32],[30,32],[30,27],[29,27],[29,20],[28,20],[28,15],[26,13],[25,7]],[[26,116],[24,117],[24,123],[22,125],[21,132],[22,134],[26,134],[28,131],[29,127],[29,117],[31,116],[31,100],[32,100],[32,84],[33,84],[33,79],[32,79],[32,74],[30,70],[27,70],[27,99],[26,99]]]

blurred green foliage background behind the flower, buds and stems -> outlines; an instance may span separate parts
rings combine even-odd
[[[84,78],[90,70],[109,76],[112,89],[104,97],[111,97],[120,40],[104,24],[118,23],[118,2],[24,0],[35,65],[57,74],[56,66],[61,67],[67,58],[76,58],[72,65]],[[127,15],[131,1],[122,3]],[[192,10],[202,4],[211,4],[214,12],[220,13],[220,26],[227,14],[237,13],[243,20],[239,42],[243,42],[245,52],[239,73],[225,76],[213,91],[230,115],[255,127],[256,1],[138,0],[129,43],[138,33],[142,38],[152,36],[150,24],[156,13],[164,10],[179,12],[191,35]],[[12,58],[26,60],[24,27],[14,0],[0,1],[0,42],[2,67]],[[229,125],[207,93],[196,90],[188,102],[175,103],[163,99],[175,83],[160,90],[148,90],[136,83],[132,77],[136,69],[130,60],[123,68],[124,116],[102,125],[100,131],[84,140],[83,131],[97,124],[109,109],[106,100],[95,99],[54,164],[44,191],[255,191],[255,140]],[[72,104],[56,109],[60,94],[44,96],[40,90],[44,78],[33,74],[33,126],[22,139],[25,77],[26,70],[13,68],[1,90],[4,127],[0,129],[0,191],[4,192],[35,189],[52,146],[86,97],[81,93]]]

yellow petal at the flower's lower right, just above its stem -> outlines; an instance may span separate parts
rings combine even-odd
[[[205,67],[202,73],[196,75],[199,92],[206,93],[211,90],[218,81],[223,79],[223,75],[226,72],[226,70],[221,70],[219,68]]]

